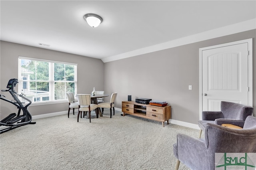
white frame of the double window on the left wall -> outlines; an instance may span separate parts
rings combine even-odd
[[[23,89],[23,82],[24,80],[22,79],[22,71],[21,71],[21,59],[27,59],[27,60],[33,60],[33,61],[43,61],[43,62],[48,62],[49,63],[49,80],[46,80],[44,82],[49,82],[49,93],[53,92],[54,93],[54,83],[55,82],[64,82],[64,81],[54,81],[54,63],[59,63],[59,64],[68,64],[68,65],[74,65],[74,95],[77,94],[77,63],[68,63],[68,62],[62,62],[62,61],[53,61],[53,60],[46,60],[46,59],[38,59],[38,58],[31,58],[31,57],[22,57],[18,56],[18,93],[22,93]],[[26,80],[27,82],[29,80]],[[37,81],[40,82],[40,81]],[[26,95],[26,93],[25,93]],[[42,97],[41,97],[42,98]],[[56,104],[56,103],[64,103],[66,102],[66,95],[65,99],[60,99],[60,100],[55,100],[54,95],[49,96],[50,101],[40,101],[40,102],[34,102],[32,101],[31,105],[46,105],[46,104]],[[34,98],[33,98],[34,99]]]

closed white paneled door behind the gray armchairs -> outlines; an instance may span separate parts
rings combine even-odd
[[[201,111],[220,111],[221,101],[252,105],[252,97],[249,94],[249,87],[252,87],[249,49],[248,42],[234,42],[200,50]]]

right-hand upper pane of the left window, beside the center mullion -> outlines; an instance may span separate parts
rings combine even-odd
[[[49,80],[49,63],[43,61],[36,62],[36,80]]]

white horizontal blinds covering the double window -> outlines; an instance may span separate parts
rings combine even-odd
[[[18,93],[32,103],[60,101],[76,94],[77,64],[29,57],[18,58]]]

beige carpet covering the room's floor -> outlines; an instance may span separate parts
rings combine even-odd
[[[92,123],[76,114],[35,119],[0,134],[1,170],[174,170],[176,134],[198,131],[109,109]],[[180,163],[180,170],[189,170]]]

